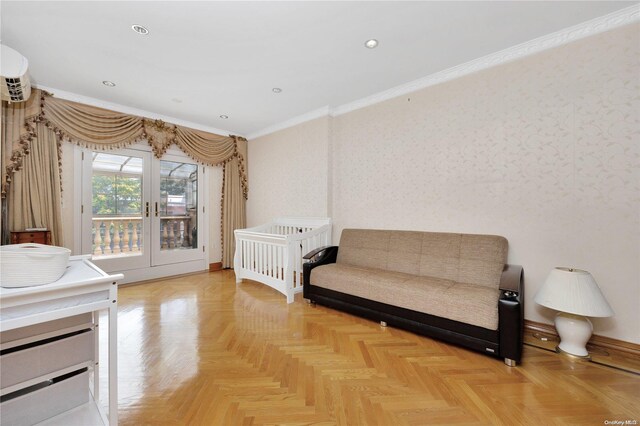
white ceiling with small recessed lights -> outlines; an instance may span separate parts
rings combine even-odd
[[[36,85],[250,135],[637,3],[3,0],[0,13]]]

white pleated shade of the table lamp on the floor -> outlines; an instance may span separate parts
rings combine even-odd
[[[534,300],[547,308],[575,315],[614,315],[596,280],[589,272],[581,269],[554,268]]]

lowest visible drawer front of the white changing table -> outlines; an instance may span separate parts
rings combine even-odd
[[[39,423],[89,402],[87,371],[0,403],[2,426]]]

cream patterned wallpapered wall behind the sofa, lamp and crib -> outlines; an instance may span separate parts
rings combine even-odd
[[[306,123],[252,141],[248,215],[256,224],[310,202],[321,211],[314,173],[329,169],[335,241],[345,227],[503,235],[525,269],[527,319],[553,321],[533,297],[554,266],[574,266],[616,312],[594,319],[595,332],[640,343],[639,32],[622,27],[341,115],[319,135]],[[285,148],[322,140],[325,127],[330,158]],[[315,201],[297,196],[307,185]]]

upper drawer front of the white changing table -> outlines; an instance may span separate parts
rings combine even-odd
[[[0,386],[6,389],[63,368],[92,361],[95,332],[85,331],[44,344],[30,344],[26,349],[0,356]],[[45,341],[46,342],[46,341]]]

